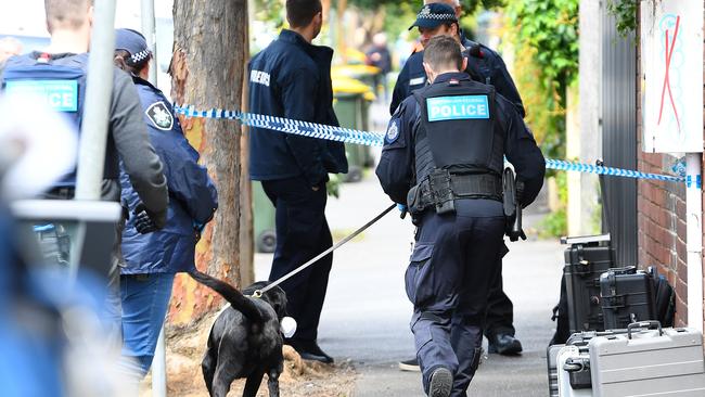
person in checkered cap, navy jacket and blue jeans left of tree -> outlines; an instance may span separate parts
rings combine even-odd
[[[123,203],[134,214],[123,231],[123,356],[133,359],[123,364],[128,373],[143,377],[154,358],[174,278],[195,269],[195,245],[218,208],[218,193],[171,104],[146,80],[152,52],[144,37],[136,30],[117,29],[115,41],[115,63],[132,76],[150,139],[164,164],[170,197],[166,225],[156,230],[143,217],[143,204],[128,176],[120,174]]]

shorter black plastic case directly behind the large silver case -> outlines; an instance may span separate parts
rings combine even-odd
[[[630,266],[610,269],[600,277],[600,295],[606,330],[632,322],[656,320],[651,274]]]

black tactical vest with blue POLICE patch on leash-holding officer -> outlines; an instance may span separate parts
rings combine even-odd
[[[421,107],[414,125],[416,183],[434,168],[501,176],[504,135],[497,123],[493,87],[453,79],[413,95]]]

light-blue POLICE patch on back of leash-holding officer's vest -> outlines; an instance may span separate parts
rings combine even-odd
[[[458,95],[426,99],[428,121],[489,118],[487,95]]]

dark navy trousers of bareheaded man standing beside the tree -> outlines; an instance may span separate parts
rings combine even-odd
[[[325,220],[325,184],[313,191],[304,177],[265,180],[265,193],[274,204],[277,248],[269,280],[274,281],[333,245]],[[294,340],[316,341],[333,255],[326,255],[281,284],[289,316],[296,319]]]

